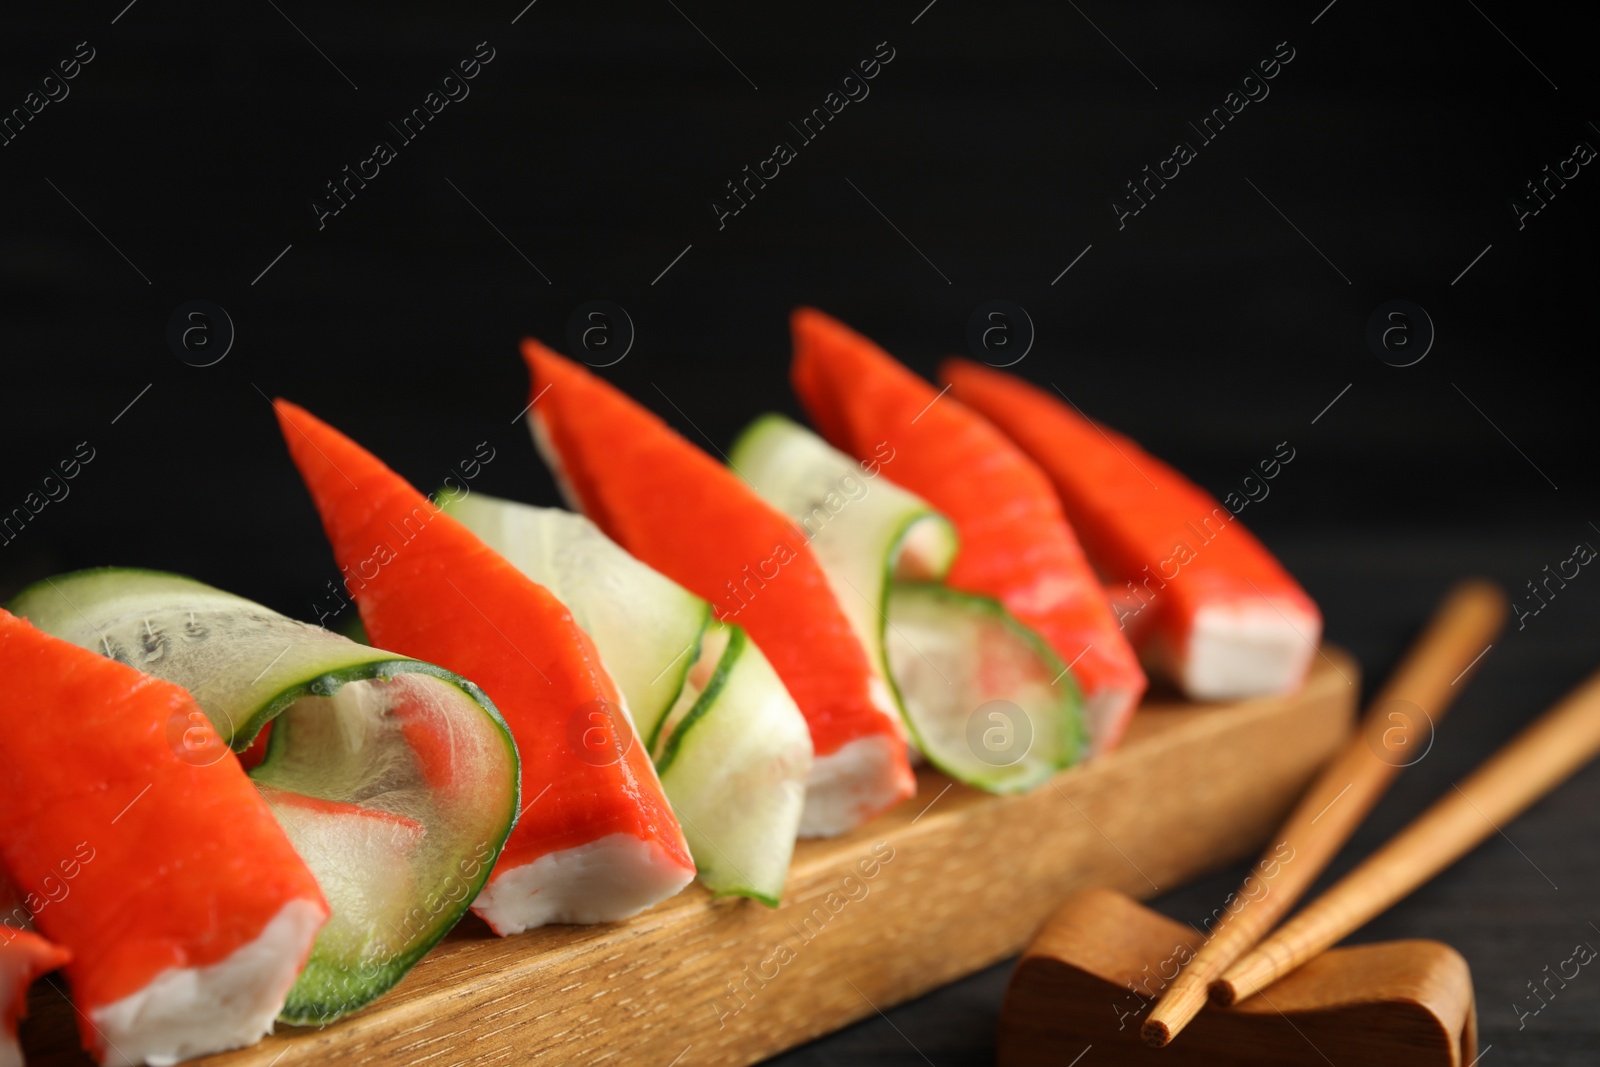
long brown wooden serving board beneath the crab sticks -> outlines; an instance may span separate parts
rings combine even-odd
[[[776,910],[696,885],[606,926],[469,917],[366,1011],[192,1062],[752,1064],[1018,953],[1074,889],[1149,897],[1253,854],[1347,737],[1357,678],[1330,648],[1293,696],[1149,701],[1117,752],[1024,797],[922,769],[914,800],[802,841]],[[91,1062],[61,989],[30,995],[35,1067]]]

